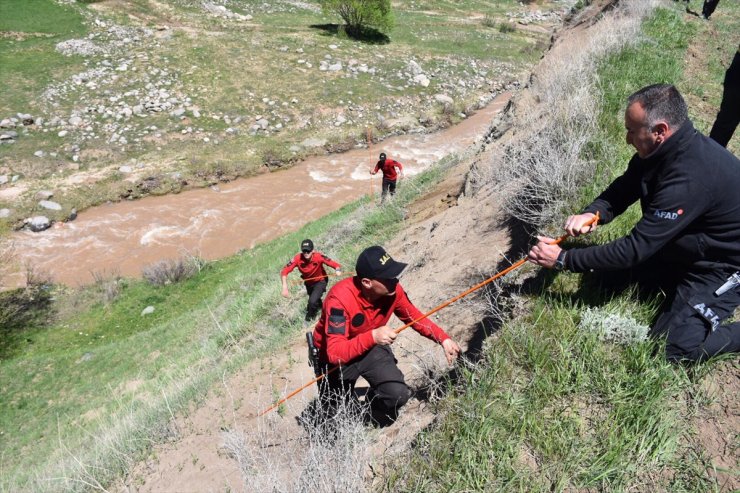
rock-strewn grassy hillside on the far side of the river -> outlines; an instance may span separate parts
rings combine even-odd
[[[0,8],[0,120],[34,118],[0,129],[17,134],[0,145],[0,175],[16,180],[0,185],[11,210],[0,221],[14,226],[42,189],[63,206],[44,211],[59,220],[346,150],[368,130],[378,140],[447,126],[519,80],[558,21],[517,24],[530,14],[514,0],[403,1],[386,39],[353,40],[312,2]]]

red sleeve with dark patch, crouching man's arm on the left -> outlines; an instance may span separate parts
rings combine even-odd
[[[368,352],[375,345],[373,331],[349,338],[350,315],[335,297],[328,296],[324,301],[326,313],[326,357],[332,365],[345,364]],[[323,317],[322,317],[323,318]]]

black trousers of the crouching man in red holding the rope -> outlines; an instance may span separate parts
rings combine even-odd
[[[411,397],[397,363],[390,346],[374,346],[351,364],[331,372],[319,385],[321,398],[326,403],[352,398],[355,383],[362,377],[370,384],[372,405],[395,416]]]

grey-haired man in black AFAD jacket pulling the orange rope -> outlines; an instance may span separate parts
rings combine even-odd
[[[599,246],[566,251],[539,237],[529,260],[573,272],[659,262],[658,275],[677,279],[652,329],[666,337],[666,357],[701,361],[740,351],[740,322],[722,324],[740,305],[740,283],[733,282],[740,281],[740,161],[694,129],[672,85],[630,96],[624,120],[636,155],[582,214],[567,219],[565,230],[589,233],[596,212],[605,224],[637,200],[642,218],[627,236]]]

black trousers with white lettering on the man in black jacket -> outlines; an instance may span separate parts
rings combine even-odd
[[[668,360],[703,361],[740,351],[740,322],[722,323],[740,305],[740,287],[714,294],[735,270],[694,269],[678,281],[670,307],[652,329],[654,336],[666,338]]]

